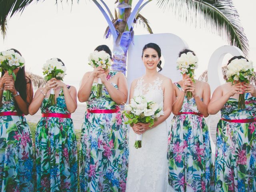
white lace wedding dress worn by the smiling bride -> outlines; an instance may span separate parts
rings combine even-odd
[[[153,84],[144,82],[143,77],[134,88],[134,96],[143,95],[148,101],[154,101],[163,108],[164,94],[162,80],[156,78]],[[166,121],[144,132],[142,147],[134,148],[136,134],[130,128],[129,168],[126,192],[169,192],[167,144],[168,131]]]

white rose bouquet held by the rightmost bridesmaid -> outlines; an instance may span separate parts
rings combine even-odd
[[[248,62],[244,58],[236,58],[232,60],[230,64],[228,64],[228,71],[226,73],[228,78],[227,81],[232,83],[234,81],[249,83],[250,78],[254,76],[253,70],[254,69],[251,61]],[[238,108],[245,108],[244,93],[239,94]]]

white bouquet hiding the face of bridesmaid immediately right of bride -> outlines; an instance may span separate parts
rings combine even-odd
[[[181,74],[189,75],[189,77],[194,80],[194,71],[198,67],[198,58],[193,55],[192,52],[187,52],[181,54],[181,56],[177,59],[177,69],[181,70]],[[192,93],[190,91],[186,92],[186,96],[188,98],[192,98]]]

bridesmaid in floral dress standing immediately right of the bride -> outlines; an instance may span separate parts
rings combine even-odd
[[[194,52],[184,49],[179,53]],[[208,126],[210,86],[184,74],[173,84],[174,117],[168,138],[169,184],[175,191],[211,191],[213,181],[212,155]],[[187,98],[186,92],[192,92]]]

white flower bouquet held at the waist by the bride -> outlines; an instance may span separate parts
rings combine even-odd
[[[150,123],[150,127],[154,125],[154,121],[158,117],[164,115],[162,109],[155,102],[148,102],[143,96],[138,96],[131,99],[130,104],[125,105],[125,116],[128,121],[125,124],[134,126],[136,123]],[[141,148],[142,134],[136,134],[134,147]]]

